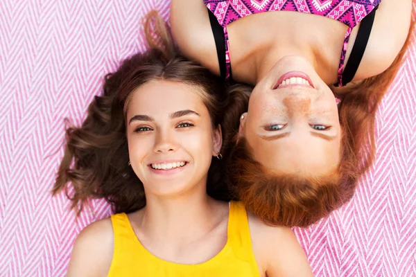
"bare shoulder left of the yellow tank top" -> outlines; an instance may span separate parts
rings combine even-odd
[[[76,238],[67,276],[107,276],[113,256],[110,218],[87,226]]]

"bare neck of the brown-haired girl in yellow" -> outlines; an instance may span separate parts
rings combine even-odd
[[[207,195],[205,180],[193,190],[173,197],[146,195],[146,207],[138,224],[148,241],[181,244],[206,235],[216,221],[218,202]]]

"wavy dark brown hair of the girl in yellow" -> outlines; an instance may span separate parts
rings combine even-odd
[[[156,35],[150,32],[153,29]],[[176,53],[168,28],[157,12],[148,15],[145,30],[151,49],[124,60],[116,72],[107,74],[103,95],[95,96],[83,125],[66,131],[67,145],[53,194],[64,190],[78,215],[89,198],[106,199],[115,213],[130,213],[146,205],[143,184],[128,166],[125,135],[125,112],[132,91],[137,87],[152,80],[170,80],[196,87],[213,127],[223,123],[223,119],[235,122],[247,105],[248,97],[238,97],[238,93],[236,97],[228,97],[220,78]],[[226,109],[233,112],[225,114]],[[227,148],[228,134],[227,127],[223,128],[224,148]],[[223,161],[213,159],[207,193],[216,199],[229,200],[224,173]],[[74,191],[71,195],[69,184]]]

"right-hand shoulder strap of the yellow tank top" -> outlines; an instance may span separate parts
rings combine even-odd
[[[250,227],[245,207],[241,202],[230,202],[228,240],[234,254],[241,260],[250,262],[257,272],[257,263],[252,249]]]

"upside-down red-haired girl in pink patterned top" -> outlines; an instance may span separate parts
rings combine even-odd
[[[411,11],[411,0],[172,0],[182,53],[254,87],[227,164],[249,211],[309,226],[351,199]]]

